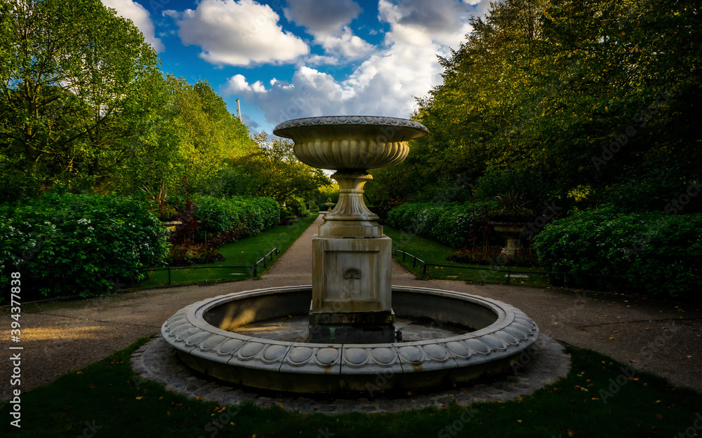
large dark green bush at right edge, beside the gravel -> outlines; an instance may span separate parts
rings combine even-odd
[[[698,299],[702,278],[702,214],[620,214],[614,208],[575,212],[534,238],[549,271],[617,275],[621,285],[651,296]]]

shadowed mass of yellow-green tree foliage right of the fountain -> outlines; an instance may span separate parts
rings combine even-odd
[[[505,0],[415,115],[430,135],[370,196],[662,210],[702,164],[702,11],[673,0]],[[686,212],[702,211],[702,203]]]

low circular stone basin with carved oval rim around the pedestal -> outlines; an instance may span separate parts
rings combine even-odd
[[[424,341],[337,344],[277,341],[237,333],[253,322],[307,315],[311,286],[238,292],[199,301],[164,322],[161,334],[192,369],[223,381],[290,392],[416,390],[471,381],[517,362],[538,338],[521,310],[481,296],[392,287],[397,315],[475,331]]]

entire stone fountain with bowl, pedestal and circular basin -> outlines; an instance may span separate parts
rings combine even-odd
[[[224,381],[290,392],[382,392],[470,381],[517,362],[538,338],[521,310],[480,296],[391,282],[391,240],[363,200],[368,170],[397,165],[407,142],[427,135],[420,123],[390,117],[331,116],[281,123],[300,161],[336,170],[336,207],[312,240],[312,286],[216,296],[179,310],[161,334],[192,369]],[[403,319],[453,323],[458,332],[401,341]],[[308,318],[305,339],[246,327]],[[404,320],[403,320],[404,322]],[[282,327],[282,324],[274,324]]]

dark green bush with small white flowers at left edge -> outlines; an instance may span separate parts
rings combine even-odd
[[[164,227],[141,200],[49,193],[0,206],[0,272],[24,299],[95,296],[163,264]]]

